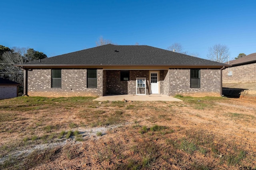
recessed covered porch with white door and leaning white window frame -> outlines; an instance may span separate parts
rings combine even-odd
[[[104,69],[103,96],[168,94],[168,69]]]

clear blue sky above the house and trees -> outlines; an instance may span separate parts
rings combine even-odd
[[[1,2],[0,45],[30,47],[48,57],[118,45],[185,51],[207,59],[227,45],[230,58],[256,53],[256,0],[8,0]]]

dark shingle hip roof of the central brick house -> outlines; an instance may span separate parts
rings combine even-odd
[[[147,45],[102,45],[21,65],[226,66]]]

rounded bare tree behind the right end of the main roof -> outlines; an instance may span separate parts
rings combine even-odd
[[[226,45],[216,44],[208,48],[208,59],[212,61],[217,61],[220,63],[225,63],[228,61],[229,48]]]

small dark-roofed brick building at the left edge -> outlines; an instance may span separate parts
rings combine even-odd
[[[18,96],[20,84],[0,77],[0,100]]]

